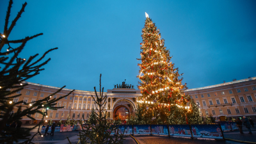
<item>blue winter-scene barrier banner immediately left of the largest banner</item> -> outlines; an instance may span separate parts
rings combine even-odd
[[[168,125],[170,136],[191,137],[189,125]]]

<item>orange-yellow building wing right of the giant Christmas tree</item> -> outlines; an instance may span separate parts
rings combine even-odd
[[[256,77],[252,77],[214,86],[188,89],[186,93],[199,104],[203,116],[208,113],[214,117],[250,116],[256,119],[255,87]]]

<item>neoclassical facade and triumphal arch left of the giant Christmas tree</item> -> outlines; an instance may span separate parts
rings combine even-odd
[[[26,83],[28,83],[28,86],[25,86],[23,90],[17,92],[21,93],[22,95],[13,99],[13,102],[24,100],[24,102],[28,103],[39,99],[44,99],[45,97],[60,89],[54,86],[46,86],[29,82]],[[63,97],[63,95],[67,95],[70,91],[72,90],[64,88],[63,90],[61,90],[61,92],[51,97],[51,99]],[[107,92],[104,92],[104,95],[107,95],[107,118],[109,120],[113,120],[113,118],[115,118],[116,116],[116,111],[119,108],[127,109],[129,111],[129,116],[134,115],[134,111],[136,110],[136,98],[140,96],[140,90],[135,90],[134,88],[114,88],[113,90],[108,90]],[[56,122],[60,119],[65,121],[67,120],[67,116],[69,114],[70,119],[81,120],[84,117],[84,119],[87,120],[90,116],[92,109],[96,109],[92,97],[96,97],[95,92],[75,90],[67,97],[60,99],[58,102],[56,102],[56,106],[61,106],[64,108],[58,110],[49,109],[47,111],[47,118],[44,119],[48,121],[52,119]],[[20,105],[28,107],[24,104]],[[33,115],[33,118],[35,118],[36,120],[33,121],[28,117],[24,116],[24,118],[22,118],[22,123],[36,124],[40,122],[42,115],[36,113],[35,115]]]

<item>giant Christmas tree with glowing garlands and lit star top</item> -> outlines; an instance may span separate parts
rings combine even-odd
[[[138,98],[141,120],[151,124],[186,124],[189,111],[188,95],[183,90],[182,74],[174,68],[170,51],[164,47],[164,40],[156,25],[146,13],[142,29],[140,88]]]

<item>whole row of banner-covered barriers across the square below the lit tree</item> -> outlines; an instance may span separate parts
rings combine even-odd
[[[82,130],[79,125],[61,125],[57,126],[54,132],[77,131]],[[232,131],[238,129],[236,122],[219,122],[218,124],[201,124],[201,125],[118,125],[118,132],[124,134],[140,135],[164,135],[164,136],[181,136],[189,138],[211,138],[224,140],[223,131]],[[42,127],[45,132],[45,126]],[[48,132],[51,132],[49,127]],[[116,134],[112,131],[111,134]]]

